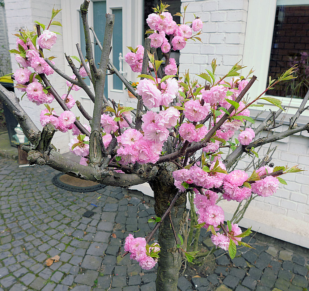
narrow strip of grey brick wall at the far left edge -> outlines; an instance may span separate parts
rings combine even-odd
[[[11,58],[9,49],[9,39],[7,35],[6,15],[4,6],[0,6],[0,77],[11,73]]]

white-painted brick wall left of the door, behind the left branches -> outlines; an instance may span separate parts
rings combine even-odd
[[[36,0],[6,0],[5,1],[5,10],[6,10],[6,20],[7,20],[7,29],[9,35],[9,44],[10,48],[15,48],[16,46],[16,37],[12,34],[16,33],[20,27],[27,28],[29,30],[33,29],[33,23],[35,20],[39,21],[47,25],[50,20],[51,11],[54,6],[55,9],[61,9],[60,7],[60,0],[53,0],[53,1],[36,1]],[[18,9],[16,9],[18,7]],[[61,12],[58,13],[55,20],[61,22]],[[53,26],[51,28],[52,31],[57,31],[62,34],[62,27]],[[64,63],[64,54],[63,54],[63,40],[62,35],[57,35],[57,42],[53,46],[51,52],[45,51],[45,56],[56,56],[57,58],[54,59],[56,65],[59,69],[64,71],[65,63]],[[14,55],[11,54],[11,62],[12,62],[12,69],[13,72],[19,68],[18,64],[14,59]],[[61,96],[62,94],[66,93],[66,84],[63,79],[53,73],[53,75],[49,76],[49,80],[51,81],[53,87]],[[22,96],[21,92],[15,90],[16,95],[20,98]],[[45,107],[43,105],[36,106],[35,103],[30,102],[26,96],[24,96],[23,100],[21,101],[21,105],[23,106],[24,110],[28,113],[30,118],[35,122],[36,126],[41,129],[39,115],[40,111]],[[52,103],[52,107],[55,108],[57,114],[60,114],[62,110],[57,102]],[[53,138],[53,144],[60,148],[61,152],[67,152],[68,147],[67,144],[69,143],[69,134],[68,133],[61,133],[56,132]]]

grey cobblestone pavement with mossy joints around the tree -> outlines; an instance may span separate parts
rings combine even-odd
[[[66,191],[52,184],[57,173],[47,166],[18,168],[14,160],[0,157],[0,291],[155,290],[155,269],[142,271],[129,256],[120,258],[129,233],[150,231],[146,220],[154,210],[147,203],[152,198],[110,186]],[[86,218],[86,210],[95,214]],[[307,290],[308,250],[248,239],[255,250],[242,248],[232,261],[217,250],[213,274],[190,282],[182,276],[178,288]],[[201,241],[211,247],[207,235]],[[60,261],[46,266],[55,255]]]

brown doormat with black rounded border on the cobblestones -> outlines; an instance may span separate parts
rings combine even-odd
[[[93,181],[75,178],[63,173],[59,173],[54,176],[52,182],[55,186],[59,188],[76,192],[92,192],[102,189],[106,186]]]

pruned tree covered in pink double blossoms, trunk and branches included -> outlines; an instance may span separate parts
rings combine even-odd
[[[172,50],[181,50],[188,41],[200,40],[203,23],[196,17],[192,23],[184,23],[185,15],[178,13],[183,24],[176,24],[167,11],[168,5],[154,8],[154,13],[147,18],[150,30],[145,45],[131,48],[125,56],[126,62],[134,72],[140,72],[141,80],[136,90],[119,73],[109,60],[114,15],[107,14],[104,42],[100,44],[95,32],[89,29],[87,9],[89,0],[81,5],[83,19],[86,60],[79,44],[76,44],[79,57],[76,66],[72,57],[66,55],[73,75],[67,76],[47,57],[57,40],[51,31],[53,21],[60,10],[53,10],[47,27],[36,22],[36,31],[21,30],[16,34],[16,48],[10,52],[20,69],[14,72],[16,88],[23,91],[27,98],[43,105],[40,131],[27,113],[19,105],[19,100],[12,92],[0,85],[0,98],[19,121],[32,146],[23,146],[28,152],[28,160],[39,165],[47,164],[68,175],[99,182],[106,185],[128,188],[132,185],[148,182],[155,195],[156,222],[154,229],[146,238],[125,239],[125,251],[131,259],[137,260],[142,268],[150,269],[159,259],[156,287],[157,290],[176,290],[178,272],[181,264],[181,253],[192,261],[196,252],[188,252],[179,241],[186,216],[187,192],[197,208],[198,229],[212,232],[212,241],[216,247],[228,250],[235,257],[236,246],[244,245],[241,238],[250,234],[250,229],[243,232],[237,224],[227,222],[224,225],[224,212],[216,205],[218,194],[228,201],[242,201],[255,193],[267,197],[275,193],[279,183],[286,182],[279,176],[301,171],[297,166],[291,168],[276,165],[269,167],[269,159],[264,159],[253,173],[234,170],[227,173],[226,168],[242,154],[256,154],[255,148],[263,144],[282,139],[294,133],[309,130],[309,124],[297,126],[299,115],[305,107],[307,93],[297,113],[290,120],[288,130],[255,140],[262,130],[272,130],[276,118],[282,112],[281,102],[276,98],[263,97],[284,80],[293,78],[294,67],[283,73],[277,80],[269,79],[269,86],[252,102],[245,103],[242,98],[247,93],[255,76],[240,76],[244,67],[235,64],[226,75],[216,77],[216,60],[213,60],[207,73],[198,75],[205,79],[205,85],[190,78],[189,73],[178,75],[174,59],[170,58]],[[185,7],[186,9],[186,7]],[[184,9],[184,11],[185,11]],[[43,30],[43,31],[42,31]],[[90,39],[92,30],[97,45],[102,49],[99,68],[93,56]],[[161,48],[165,63],[158,60],[157,48]],[[44,55],[45,54],[45,55]],[[115,104],[104,96],[106,72],[116,74],[125,86],[138,97],[137,108]],[[58,94],[49,82],[50,74],[56,72],[66,80],[68,91]],[[88,76],[94,91],[89,89],[84,78]],[[79,101],[70,95],[71,90],[83,89],[94,103],[92,116],[87,113]],[[279,107],[255,129],[248,127],[254,123],[249,108],[255,106],[258,99],[265,99]],[[63,112],[57,114],[49,106],[56,100]],[[82,125],[70,109],[78,107],[81,114],[89,121]],[[135,115],[135,118],[133,118]],[[241,131],[242,126],[247,127]],[[56,130],[72,130],[69,149],[81,157],[77,164],[67,160],[51,144]],[[237,135],[236,131],[241,132]],[[236,135],[235,135],[236,133]],[[235,143],[233,136],[237,136]],[[233,139],[234,140],[234,139]],[[220,151],[229,143],[233,152],[225,155]],[[165,218],[169,219],[165,219]],[[170,227],[171,226],[171,227]],[[159,228],[159,243],[149,244]],[[221,230],[221,232],[220,232]],[[179,236],[181,238],[181,235]],[[180,239],[182,240],[182,238]],[[123,256],[125,255],[123,254]]]

